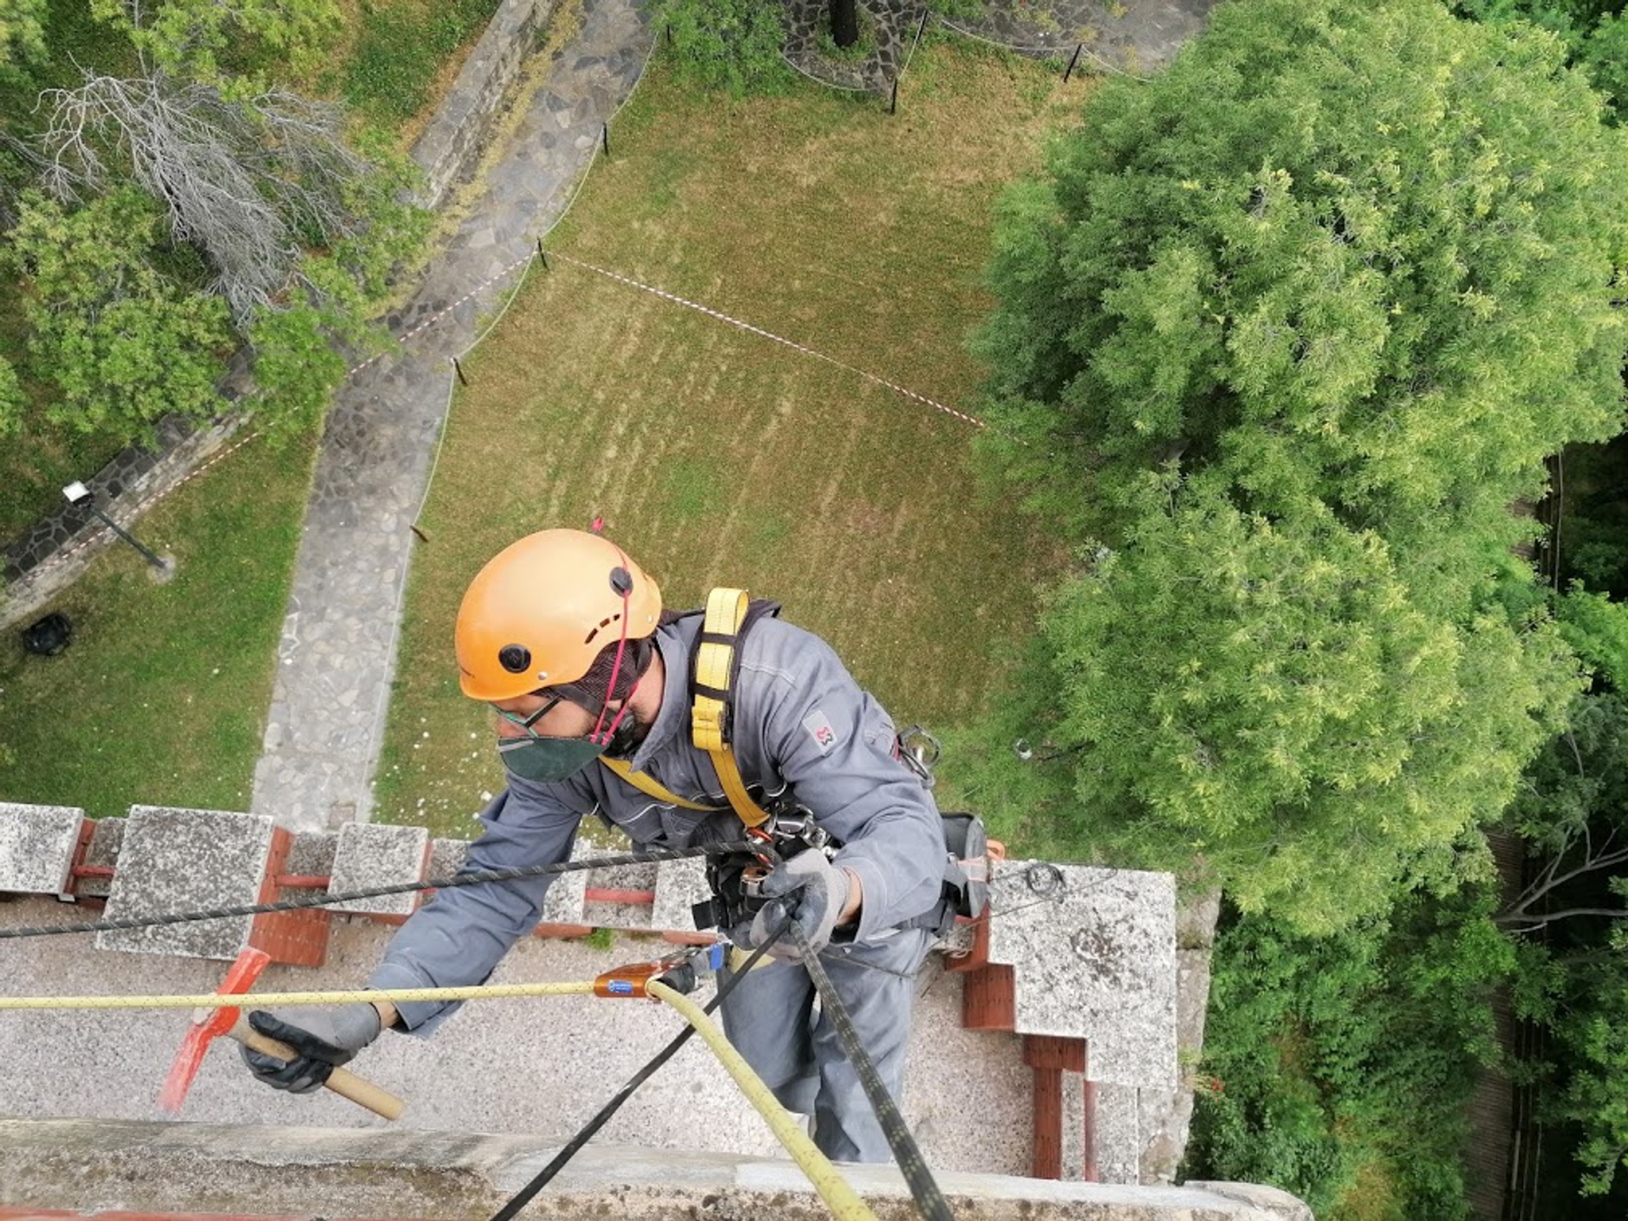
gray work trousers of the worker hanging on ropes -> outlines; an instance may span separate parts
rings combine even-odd
[[[819,956],[894,1102],[904,1094],[915,977],[931,944],[925,928],[889,930]],[[821,1153],[832,1161],[886,1162],[887,1138],[817,1000],[801,964],[772,959],[724,1000],[724,1034],[780,1105],[814,1117]]]

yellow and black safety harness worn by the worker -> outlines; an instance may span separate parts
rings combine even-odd
[[[809,811],[798,807],[790,814],[773,816],[765,811],[746,788],[741,768],[734,762],[733,713],[734,713],[734,681],[741,671],[741,648],[747,628],[760,619],[780,614],[780,602],[752,599],[744,589],[718,588],[707,596],[707,607],[702,619],[702,632],[690,658],[690,741],[697,751],[705,751],[718,772],[718,783],[723,786],[728,806],[707,806],[689,801],[672,793],[666,785],[643,772],[633,772],[625,759],[599,757],[599,762],[615,772],[640,793],[679,809],[716,814],[723,809],[734,809],[736,817],[746,825],[747,834],[767,835],[796,827],[794,838],[803,838],[804,847],[825,842],[824,832],[814,827]],[[913,768],[921,775],[923,783],[931,783],[923,768]],[[905,921],[900,928],[934,928],[939,933],[949,930],[957,915],[982,915],[988,897],[988,861],[985,858],[983,824],[972,814],[944,814],[943,827],[946,837],[946,863],[938,905],[923,915]],[[821,838],[809,838],[812,835]],[[744,863],[729,868],[724,861],[708,864],[708,877],[715,892],[723,900],[718,907],[697,904],[697,923],[702,928],[711,923],[724,925],[739,918],[736,907]],[[711,912],[708,920],[703,908]],[[702,923],[702,921],[707,923]]]

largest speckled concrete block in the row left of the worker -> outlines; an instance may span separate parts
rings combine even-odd
[[[132,806],[107,892],[107,918],[239,907],[260,899],[272,819],[218,809]],[[96,934],[98,949],[234,959],[252,917]]]

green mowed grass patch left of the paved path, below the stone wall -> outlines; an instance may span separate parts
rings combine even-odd
[[[73,620],[65,653],[3,633],[0,799],[247,809],[311,461],[254,440],[173,492],[132,532],[174,578],[114,544],[47,607]]]

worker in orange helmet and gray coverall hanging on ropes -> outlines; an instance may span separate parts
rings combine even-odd
[[[737,641],[728,754],[755,803],[794,801],[830,847],[783,845],[781,863],[760,881],[755,913],[741,894],[741,869],[713,861],[716,910],[737,920],[728,931],[744,946],[786,918],[798,923],[899,1099],[913,978],[946,920],[944,830],[921,777],[900,762],[882,707],[824,640],[775,610],[754,604]],[[480,570],[457,612],[459,681],[493,710],[508,788],[480,814],[484,832],[466,869],[565,861],[591,812],[635,847],[742,838],[720,775],[729,759],[720,764],[692,741],[702,624],[700,612],[664,614],[656,583],[597,534],[531,534]],[[550,881],[441,891],[396,933],[368,987],[484,982],[537,923]],[[770,965],[749,972],[723,1004],[729,1040],[781,1105],[812,1117],[822,1153],[887,1161],[881,1125],[791,938],[770,952]],[[427,1035],[456,1008],[376,1001],[257,1011],[251,1024],[300,1057],[244,1048],[244,1060],[262,1081],[306,1092],[383,1029]]]

